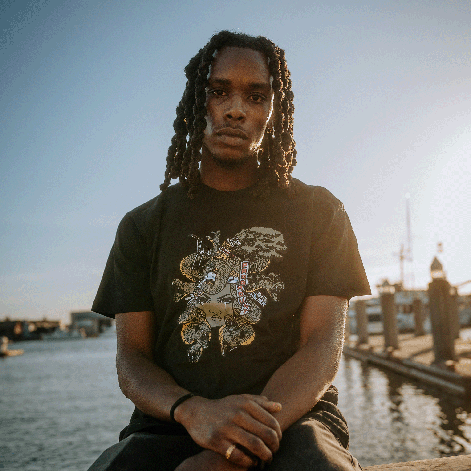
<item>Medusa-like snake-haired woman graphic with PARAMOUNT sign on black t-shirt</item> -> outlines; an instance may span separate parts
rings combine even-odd
[[[283,291],[275,273],[267,274],[271,260],[283,260],[283,234],[269,227],[243,229],[222,244],[221,232],[206,239],[196,235],[196,252],[180,262],[187,280],[174,279],[173,300],[188,301],[179,317],[181,339],[188,345],[191,363],[196,363],[211,341],[211,327],[219,327],[221,354],[249,345],[255,339],[252,325],[260,320],[268,298],[277,302]]]

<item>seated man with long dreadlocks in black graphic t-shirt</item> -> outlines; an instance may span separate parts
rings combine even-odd
[[[122,220],[92,308],[136,410],[90,470],[360,469],[331,384],[370,290],[342,203],[292,179],[284,51],[222,31],[185,72],[163,191]]]

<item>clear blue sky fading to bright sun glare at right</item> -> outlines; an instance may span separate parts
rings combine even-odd
[[[343,201],[373,292],[399,279],[406,193],[406,287],[437,242],[471,279],[470,24],[455,0],[2,0],[0,318],[90,309],[119,221],[159,193],[183,69],[222,29],[286,51],[293,176]]]

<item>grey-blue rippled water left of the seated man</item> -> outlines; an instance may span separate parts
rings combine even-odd
[[[134,410],[118,386],[114,334],[11,348],[25,352],[0,358],[3,468],[87,470],[118,441]]]

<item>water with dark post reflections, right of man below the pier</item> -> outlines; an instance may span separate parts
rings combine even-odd
[[[365,466],[471,453],[471,401],[343,357],[334,381]]]

